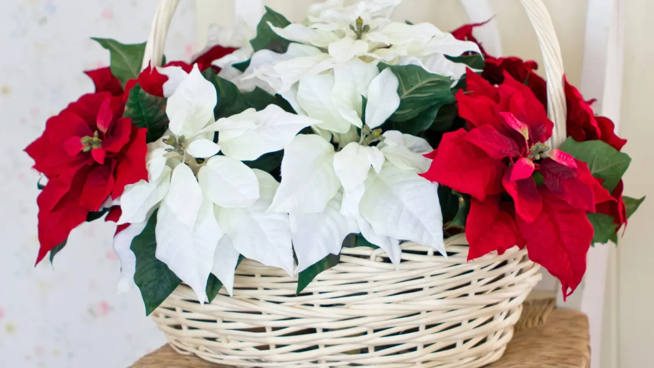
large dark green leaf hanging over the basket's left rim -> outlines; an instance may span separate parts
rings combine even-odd
[[[157,246],[154,236],[156,225],[157,211],[152,213],[145,229],[135,236],[130,247],[136,256],[134,282],[141,289],[146,316],[154,312],[182,283],[165,263],[154,256]]]

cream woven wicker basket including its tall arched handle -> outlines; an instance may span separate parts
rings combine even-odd
[[[161,0],[144,66],[160,65],[179,0]],[[559,43],[541,0],[521,0],[543,51],[551,141],[565,139]],[[489,234],[492,236],[492,234]],[[482,367],[499,359],[540,280],[517,247],[468,263],[464,235],[449,257],[407,242],[399,270],[381,249],[343,248],[341,263],[296,296],[296,278],[244,260],[234,296],[199,304],[181,285],[152,314],[175,350],[233,367]]]

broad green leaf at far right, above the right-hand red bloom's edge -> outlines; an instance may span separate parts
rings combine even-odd
[[[626,153],[603,141],[577,142],[570,137],[563,142],[560,150],[586,162],[594,177],[604,179],[604,188],[610,192],[613,192],[631,162]]]

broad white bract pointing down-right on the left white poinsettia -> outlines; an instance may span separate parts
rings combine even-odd
[[[267,212],[279,183],[262,170],[254,170],[254,174],[258,179],[260,198],[247,208],[216,206],[218,224],[238,253],[264,265],[279,267],[292,276],[293,250],[288,213]],[[228,246],[220,244],[221,248]]]

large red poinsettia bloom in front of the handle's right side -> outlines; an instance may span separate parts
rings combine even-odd
[[[532,260],[560,278],[567,296],[581,282],[593,238],[586,213],[610,195],[585,162],[545,145],[553,123],[527,86],[506,72],[498,87],[472,71],[466,81],[456,100],[469,130],[444,134],[422,176],[472,196],[470,259],[526,244]],[[571,218],[574,225],[562,223]],[[548,242],[560,252],[549,252]]]

